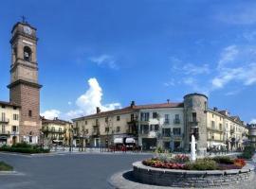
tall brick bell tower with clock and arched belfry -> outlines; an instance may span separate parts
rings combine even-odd
[[[21,106],[19,135],[22,141],[37,144],[40,136],[40,88],[36,28],[23,20],[11,30],[9,101]]]

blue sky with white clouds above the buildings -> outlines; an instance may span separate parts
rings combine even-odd
[[[205,93],[256,121],[256,2],[5,1],[0,99],[9,100],[10,29],[38,28],[41,112],[64,118]]]

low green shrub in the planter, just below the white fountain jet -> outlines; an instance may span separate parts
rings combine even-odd
[[[199,159],[194,163],[186,163],[187,170],[216,170],[217,163],[213,160]]]

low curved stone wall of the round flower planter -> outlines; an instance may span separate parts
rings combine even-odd
[[[251,180],[254,166],[247,164],[242,169],[192,171],[162,169],[133,163],[134,178],[142,183],[174,187],[213,187],[227,186]]]

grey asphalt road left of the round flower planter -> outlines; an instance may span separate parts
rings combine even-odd
[[[0,153],[0,161],[24,175],[0,175],[1,189],[110,189],[107,180],[151,155],[57,154],[20,156]]]

